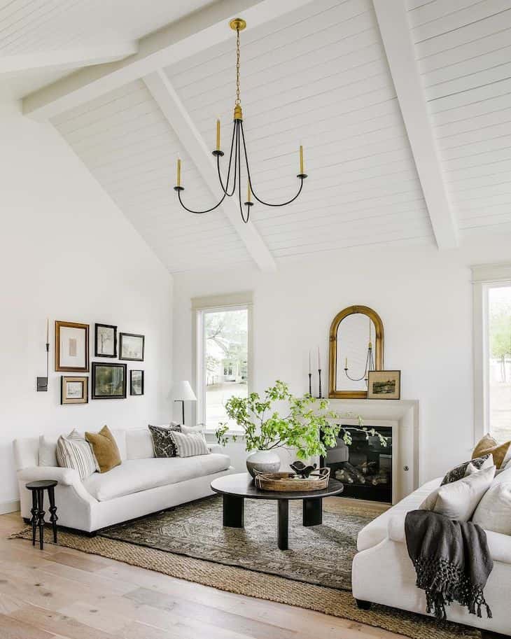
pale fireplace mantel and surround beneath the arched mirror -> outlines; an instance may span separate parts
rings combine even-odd
[[[419,487],[419,401],[418,400],[335,400],[330,409],[343,416],[342,423],[390,426],[393,443],[392,502],[396,503]],[[344,415],[346,418],[344,419]]]

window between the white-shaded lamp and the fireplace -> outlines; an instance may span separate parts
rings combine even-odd
[[[249,332],[251,304],[235,304],[246,295],[224,298],[227,303],[200,308],[222,298],[193,300],[197,344],[197,421],[214,430],[229,423],[225,402],[232,396],[247,397],[249,379]],[[199,308],[197,308],[199,307]],[[237,429],[235,422],[230,428]]]

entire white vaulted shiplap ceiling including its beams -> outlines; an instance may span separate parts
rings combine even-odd
[[[151,0],[143,16],[130,4],[4,3],[0,73],[170,272],[511,232],[509,1]],[[296,202],[253,206],[248,225],[232,202],[188,213],[172,188],[181,157],[187,206],[218,199],[210,151],[216,118],[224,149],[232,130],[233,7],[248,22],[254,188],[293,194],[300,144],[309,174]]]

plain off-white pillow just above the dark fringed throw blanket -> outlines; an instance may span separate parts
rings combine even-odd
[[[496,467],[486,468],[458,479],[457,482],[444,484],[431,493],[419,506],[420,510],[433,510],[439,514],[468,521],[474,513],[482,496],[491,486]]]

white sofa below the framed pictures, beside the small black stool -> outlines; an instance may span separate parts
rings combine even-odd
[[[38,479],[59,482],[55,488],[59,526],[92,533],[212,495],[213,479],[234,472],[230,458],[216,444],[209,446],[209,455],[155,458],[148,428],[112,432],[123,463],[109,472],[94,472],[83,481],[77,470],[39,465],[38,437],[15,440],[22,517],[31,517],[31,495],[25,484]]]

